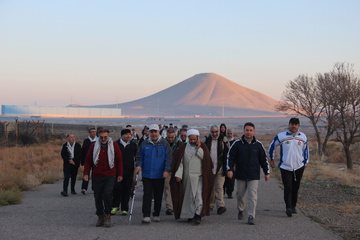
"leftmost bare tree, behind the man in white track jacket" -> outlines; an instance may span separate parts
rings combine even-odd
[[[282,102],[276,106],[279,112],[292,112],[308,118],[315,130],[317,140],[317,153],[322,155],[323,147],[322,138],[319,130],[319,120],[321,118],[324,106],[318,98],[318,87],[312,77],[299,75],[294,80],[286,84],[286,90],[282,94]]]

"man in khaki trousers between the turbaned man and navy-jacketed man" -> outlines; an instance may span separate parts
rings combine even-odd
[[[220,135],[217,125],[210,126],[210,134],[205,138],[205,145],[210,151],[213,162],[214,189],[211,194],[210,207],[217,207],[217,214],[226,212],[224,201],[224,182],[226,175],[226,158],[229,151],[229,142],[226,137]]]

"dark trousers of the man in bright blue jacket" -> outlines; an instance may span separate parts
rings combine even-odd
[[[165,180],[164,178],[160,178],[160,179],[150,179],[145,177],[142,178],[143,188],[144,188],[143,205],[142,205],[143,217],[150,217],[153,194],[154,194],[153,216],[157,217],[160,215],[161,201],[164,191],[164,180]]]

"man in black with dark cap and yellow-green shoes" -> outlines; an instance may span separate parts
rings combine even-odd
[[[121,130],[121,137],[116,141],[122,153],[124,175],[121,182],[115,182],[114,184],[111,215],[115,215],[119,211],[120,203],[121,215],[126,216],[129,211],[129,199],[137,153],[137,144],[131,141],[132,136],[131,129],[125,128]]]

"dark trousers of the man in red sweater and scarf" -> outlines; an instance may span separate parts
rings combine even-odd
[[[96,215],[110,214],[115,176],[93,177]]]

